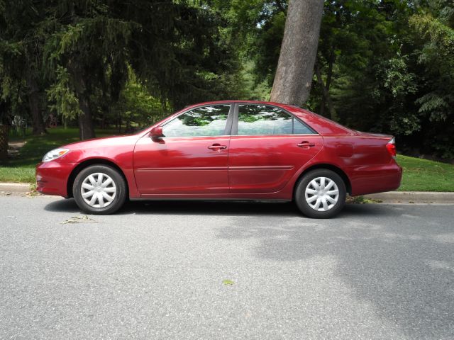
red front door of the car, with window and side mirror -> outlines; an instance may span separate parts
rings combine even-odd
[[[228,193],[232,119],[230,104],[201,106],[164,123],[164,137],[142,137],[134,151],[141,195]]]

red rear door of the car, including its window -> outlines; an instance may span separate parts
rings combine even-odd
[[[231,193],[274,193],[312,159],[323,138],[290,113],[237,103],[228,154]]]

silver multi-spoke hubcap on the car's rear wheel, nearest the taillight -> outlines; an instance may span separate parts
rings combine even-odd
[[[317,177],[306,186],[305,197],[307,204],[312,209],[328,211],[338,203],[339,188],[328,177]]]

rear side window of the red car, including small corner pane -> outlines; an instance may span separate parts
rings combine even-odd
[[[265,105],[238,106],[238,135],[292,135],[314,132],[279,108]]]

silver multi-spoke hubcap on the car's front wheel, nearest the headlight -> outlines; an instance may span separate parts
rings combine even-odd
[[[93,208],[105,208],[114,201],[116,186],[110,176],[101,172],[87,176],[82,182],[82,198]]]

